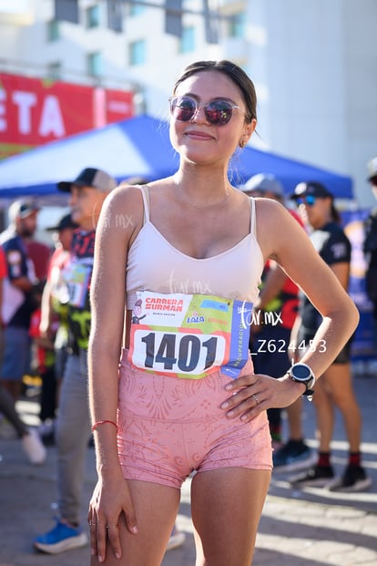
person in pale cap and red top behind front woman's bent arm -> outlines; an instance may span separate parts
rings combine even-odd
[[[249,196],[273,199],[285,206],[283,186],[273,175],[262,173],[254,175],[241,187],[241,190]],[[289,211],[303,227],[299,214],[296,211]],[[298,286],[287,277],[276,262],[269,260],[262,273],[260,296],[254,305],[256,320],[251,327],[250,335],[250,351],[257,373],[280,377],[281,373],[289,369],[290,334],[298,307]],[[266,317],[265,313],[270,315]],[[275,448],[272,455],[274,469],[282,464],[287,465],[287,457],[290,457],[290,463],[293,460],[296,462],[300,460],[301,463],[306,464],[312,458],[312,454],[311,449],[302,439],[301,427],[293,436],[290,431],[289,442],[284,445],[284,450],[279,450],[282,445],[281,411],[282,409],[278,407],[271,407],[267,411],[272,446]]]

